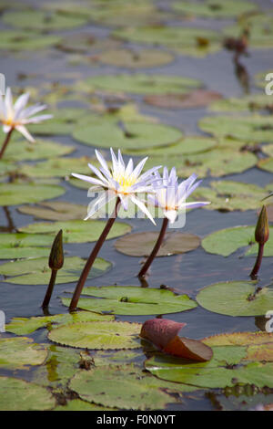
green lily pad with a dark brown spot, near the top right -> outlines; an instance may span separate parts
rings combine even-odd
[[[207,28],[186,26],[126,27],[116,30],[113,36],[134,43],[168,47],[174,52],[190,57],[206,57],[221,48],[219,34]]]

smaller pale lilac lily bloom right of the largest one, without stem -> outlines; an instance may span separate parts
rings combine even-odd
[[[202,182],[200,180],[195,183],[197,180],[196,174],[192,174],[187,180],[179,184],[175,167],[172,168],[169,174],[167,167],[165,167],[162,178],[158,172],[155,173],[155,176],[157,177],[157,181],[154,183],[156,194],[149,195],[149,200],[154,206],[163,210],[164,216],[167,217],[171,224],[177,219],[179,211],[210,204],[208,201],[186,202],[187,197]]]

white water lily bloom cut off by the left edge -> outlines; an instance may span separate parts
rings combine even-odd
[[[35,104],[34,106],[26,107],[29,99],[29,94],[22,94],[13,103],[12,91],[6,89],[5,98],[0,98],[0,122],[3,124],[3,131],[7,134],[12,130],[21,132],[25,139],[35,142],[32,135],[26,130],[25,125],[28,123],[39,123],[42,120],[49,120],[52,115],[34,116],[41,110],[46,109],[45,104]]]

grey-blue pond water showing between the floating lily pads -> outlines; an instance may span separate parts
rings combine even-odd
[[[41,0],[31,2],[39,7],[46,2]],[[267,1],[256,1],[263,8],[268,7]],[[29,5],[30,2],[21,1],[20,4]],[[60,2],[62,4],[62,2]],[[92,4],[92,2],[90,2]],[[157,6],[161,6],[164,10],[171,7],[171,2],[158,1]],[[167,12],[166,12],[167,13]],[[1,17],[0,17],[1,18]],[[190,26],[206,26],[209,29],[220,30],[234,22],[233,19],[212,20],[205,18],[197,18]],[[180,26],[179,20],[168,20],[168,26]],[[0,19],[0,29],[2,31],[8,29],[8,24],[5,24]],[[66,35],[88,32],[95,37],[107,37],[112,31],[110,26],[99,25],[98,23],[88,23],[85,26],[80,26],[71,30],[56,31],[53,33]],[[126,47],[137,47],[130,42],[125,42]],[[254,76],[258,72],[264,70],[273,70],[273,55],[272,49],[249,49],[250,55],[242,57],[241,61],[248,70],[250,78],[250,91],[257,92],[258,89],[254,84]],[[69,54],[58,50],[54,47],[39,49],[34,51],[5,51],[0,59],[0,71],[5,74],[6,84],[11,88],[20,86],[36,87],[45,84],[45,82],[54,82],[73,85],[74,81],[84,80],[89,76],[107,75],[117,73],[132,73],[128,68],[102,65],[99,62],[91,64],[83,64],[81,61],[75,65],[69,64]],[[219,52],[208,55],[205,58],[194,58],[186,55],[177,55],[174,61],[157,68],[140,68],[139,72],[145,72],[151,76],[153,74],[162,74],[170,76],[184,76],[197,78],[203,82],[207,90],[219,92],[223,97],[243,97],[244,91],[238,82],[238,78],[234,73],[234,64],[232,62],[232,53],[222,49]],[[67,78],[69,76],[70,78]],[[25,78],[22,79],[22,76]],[[20,79],[21,76],[21,79]],[[172,125],[179,130],[184,131],[187,135],[206,135],[197,126],[198,120],[205,116],[213,116],[207,108],[192,108],[181,110],[159,109],[148,106],[142,97],[139,95],[130,95],[130,99],[136,102],[136,106],[142,114],[154,116],[161,123]],[[35,99],[31,99],[35,102]],[[76,101],[68,103],[69,106],[77,105]],[[63,103],[66,107],[66,102]],[[81,106],[79,102],[79,106]],[[86,146],[76,141],[72,136],[49,136],[51,140],[73,145],[76,151],[69,157],[93,156],[95,147]],[[12,144],[12,143],[11,143]],[[235,156],[237,154],[235,153]],[[128,160],[129,156],[125,155]],[[33,162],[30,162],[30,164]],[[194,173],[194,167],[193,167]],[[253,183],[261,187],[265,187],[268,183],[272,183],[272,173],[267,173],[257,167],[250,168],[244,173],[229,174],[224,177],[224,180],[231,180],[242,183]],[[210,177],[206,177],[202,183],[208,186],[211,182]],[[214,178],[213,180],[223,180],[222,177]],[[84,204],[87,206],[89,200],[86,195],[86,190],[78,189],[70,185],[67,181],[62,180],[61,185],[66,189],[66,194],[60,196],[57,201],[66,201],[74,204]],[[5,232],[15,232],[17,228],[28,225],[38,220],[27,214],[21,214],[17,210],[18,206],[0,207],[0,226]],[[209,211],[205,209],[197,209],[187,213],[186,226],[183,232],[196,234],[203,238],[206,235],[215,232],[219,229],[237,226],[237,225],[255,225],[257,222],[257,212],[248,210],[245,212],[228,212],[221,213],[217,210]],[[126,223],[132,226],[132,231],[145,232],[155,231],[160,229],[161,221],[157,221],[157,227],[151,225],[148,220],[144,219],[128,219]],[[139,287],[140,283],[136,274],[140,267],[141,257],[131,257],[122,255],[116,252],[114,248],[115,239],[108,240],[102,247],[99,256],[105,258],[113,264],[111,270],[106,272],[101,277],[93,280],[88,280],[86,286],[106,286],[106,285],[124,285]],[[92,249],[92,243],[85,244],[70,244],[65,245],[65,250],[69,256],[89,255]],[[177,293],[186,293],[190,298],[197,296],[198,290],[213,283],[230,280],[249,280],[249,272],[251,271],[255,258],[240,257],[242,249],[233,253],[231,256],[223,257],[208,254],[201,246],[192,252],[184,255],[158,257],[147,277],[148,286],[158,288],[160,285],[166,285],[169,288],[174,288]],[[7,262],[6,260],[2,261]],[[259,273],[260,283],[264,286],[271,283],[272,279],[272,258],[265,257],[262,262],[262,267]],[[2,277],[3,279],[3,277]],[[1,282],[0,278],[0,309],[5,311],[6,322],[13,317],[30,317],[43,316],[43,310],[40,308],[42,300],[45,296],[45,286],[27,286],[14,285],[11,283]],[[59,297],[65,290],[73,291],[75,283],[58,284],[54,290],[51,299],[50,314],[59,314],[66,312],[66,308],[62,305]],[[261,318],[250,317],[230,317],[220,315],[203,309],[198,306],[196,309],[184,311],[181,313],[168,314],[163,316],[165,319],[173,319],[179,322],[186,322],[187,326],[183,329],[183,335],[193,339],[202,339],[207,336],[225,333],[225,332],[240,332],[240,331],[256,331],[259,330]],[[145,320],[151,319],[151,316],[116,316],[116,320],[128,320],[143,323]],[[13,337],[13,334],[2,334],[5,337]],[[50,342],[46,338],[45,330],[36,330],[30,335],[36,342]],[[6,372],[1,370],[2,374]],[[28,379],[29,374],[25,375]],[[204,392],[185,394],[183,402],[180,404],[170,403],[167,405],[168,410],[210,410],[215,409],[213,403],[205,395]]]

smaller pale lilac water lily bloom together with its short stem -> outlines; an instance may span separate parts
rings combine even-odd
[[[167,167],[164,167],[162,178],[158,172],[155,172],[154,175],[157,179],[153,183],[155,194],[148,195],[148,198],[151,204],[155,207],[160,207],[163,210],[164,219],[157,242],[150,256],[148,256],[146,263],[138,273],[138,277],[140,278],[145,277],[148,268],[157,256],[157,252],[162,245],[167,231],[168,222],[170,222],[170,224],[174,224],[180,211],[185,213],[187,208],[197,208],[202,205],[210,204],[207,201],[197,201],[193,203],[186,202],[187,197],[192,194],[197,186],[202,182],[196,182],[196,174],[192,174],[187,178],[187,180],[180,184],[178,184],[177,171],[175,167],[172,168],[169,174],[167,172]]]

